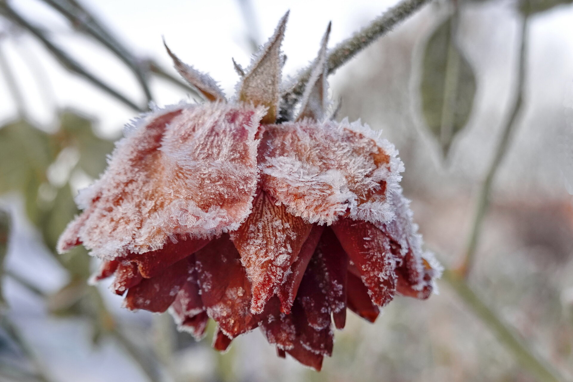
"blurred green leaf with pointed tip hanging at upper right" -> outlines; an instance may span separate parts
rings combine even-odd
[[[447,18],[427,41],[420,86],[423,117],[444,156],[468,122],[476,93],[473,69],[453,37],[456,22],[456,17]]]

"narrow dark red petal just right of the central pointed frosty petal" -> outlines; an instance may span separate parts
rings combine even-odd
[[[299,290],[300,282],[303,279],[304,271],[323,233],[324,226],[313,225],[311,233],[300,249],[299,255],[291,265],[291,272],[285,276],[278,289],[277,296],[281,300],[281,312],[291,312],[291,306],[295,301],[296,293]],[[346,256],[346,254],[344,254]]]

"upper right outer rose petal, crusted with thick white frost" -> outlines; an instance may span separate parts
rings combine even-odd
[[[368,127],[303,120],[265,125],[258,162],[262,187],[309,223],[339,216],[385,223],[394,218],[388,184],[399,187],[402,164]]]

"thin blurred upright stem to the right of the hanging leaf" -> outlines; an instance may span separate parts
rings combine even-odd
[[[525,58],[527,56],[527,29],[528,17],[526,15],[523,18],[520,29],[521,42],[519,60],[517,64],[519,65],[519,68],[517,69],[516,99],[511,112],[509,113],[509,117],[503,127],[503,135],[501,136],[501,140],[497,145],[495,155],[493,157],[492,163],[489,166],[488,173],[485,176],[484,183],[481,186],[480,195],[478,196],[476,215],[474,216],[472,230],[470,231],[464,262],[459,269],[460,273],[464,275],[464,277],[467,277],[470,270],[472,269],[485,213],[487,212],[489,206],[489,198],[492,191],[493,180],[495,179],[497,170],[499,170],[500,164],[505,157],[513,129],[515,129],[517,125],[516,118],[521,111],[525,80]]]

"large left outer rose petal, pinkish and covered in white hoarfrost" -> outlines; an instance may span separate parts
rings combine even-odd
[[[77,198],[83,214],[60,250],[99,257],[236,230],[256,191],[255,134],[264,108],[220,103],[156,111],[116,144],[104,175]]]

